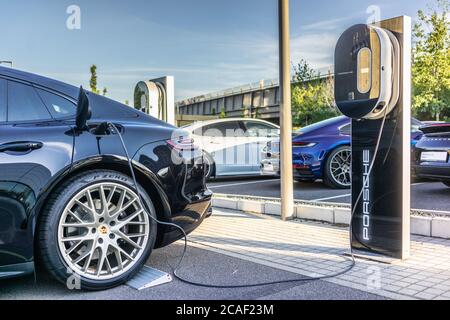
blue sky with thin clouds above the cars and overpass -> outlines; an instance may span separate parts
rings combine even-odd
[[[314,68],[329,67],[339,35],[366,23],[376,8],[381,19],[415,20],[430,1],[291,0],[292,63],[305,59]],[[131,104],[138,81],[173,75],[181,100],[278,77],[277,3],[0,0],[0,61],[85,87],[96,64],[99,89]],[[72,5],[80,8],[79,29],[67,27]]]

